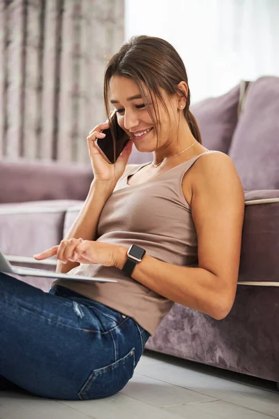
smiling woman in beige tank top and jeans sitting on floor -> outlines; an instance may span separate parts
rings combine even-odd
[[[163,39],[131,38],[107,64],[104,98],[130,141],[111,165],[95,145],[108,124],[93,128],[82,210],[60,244],[34,257],[117,283],[57,280],[43,293],[1,274],[2,388],[108,397],[174,302],[216,319],[234,302],[243,188],[229,156],[202,146],[179,54]],[[126,166],[133,144],[153,161]]]

